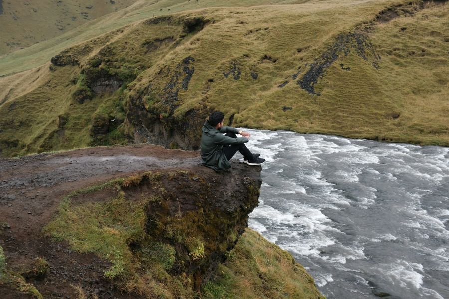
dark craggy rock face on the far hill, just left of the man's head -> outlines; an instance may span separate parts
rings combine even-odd
[[[179,107],[178,93],[188,89],[195,71],[194,62],[189,56],[173,68],[162,69],[160,78],[167,82],[162,89],[150,85],[128,100],[126,124],[134,128],[134,142],[198,149],[199,132],[209,111],[191,109],[174,116]]]

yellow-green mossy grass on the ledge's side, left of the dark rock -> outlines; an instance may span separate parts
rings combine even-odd
[[[174,247],[147,234],[145,208],[149,202],[160,204],[165,192],[158,183],[159,176],[157,172],[145,173],[72,193],[61,203],[57,216],[44,232],[55,240],[67,241],[74,250],[92,252],[109,261],[111,266],[105,276],[130,292],[193,298],[187,287],[189,278],[169,274],[176,263]],[[153,180],[153,196],[128,198],[127,190],[148,179]],[[95,202],[96,194],[106,190],[117,196]],[[78,196],[90,199],[74,204],[73,199]]]

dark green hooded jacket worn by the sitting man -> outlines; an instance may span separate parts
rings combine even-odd
[[[238,134],[238,130],[232,127],[222,127],[217,130],[208,121],[204,123],[202,131],[203,135],[200,142],[201,162],[215,171],[230,167],[230,163],[223,153],[223,145],[234,145],[249,141],[246,137],[232,138],[225,136],[222,133],[233,132]]]

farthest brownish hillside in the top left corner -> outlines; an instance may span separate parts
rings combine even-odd
[[[70,31],[136,0],[0,1],[0,55]]]

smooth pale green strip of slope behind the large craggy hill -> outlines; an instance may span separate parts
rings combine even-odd
[[[87,3],[87,0],[79,1],[85,1]],[[125,3],[129,1],[131,0],[125,0]],[[64,31],[61,35],[58,35],[55,38],[0,56],[0,77],[39,67],[67,47],[85,42],[91,38],[95,38],[101,34],[121,28],[133,22],[151,17],[207,7],[248,7],[253,5],[297,4],[308,1],[310,0],[228,0],[225,2],[220,0],[137,0],[133,5],[127,8],[120,9],[117,12],[95,19],[91,18],[87,23],[74,29],[71,28],[71,30]],[[90,2],[92,3],[92,1]],[[116,1],[116,3],[117,2],[118,1]],[[93,4],[89,4],[88,6],[90,5]],[[81,5],[80,7],[83,6]],[[52,12],[50,13],[52,14]],[[7,12],[4,12],[4,15],[6,14]],[[56,13],[55,15],[59,14],[60,13]],[[2,17],[2,15],[0,15],[0,17]],[[42,22],[42,20],[40,20],[40,22]],[[11,24],[9,21],[6,21],[4,26],[9,28]],[[41,23],[39,23],[38,26],[41,26]],[[26,30],[32,30],[32,27],[26,27]],[[5,36],[8,35],[9,34],[6,34]],[[33,43],[28,44],[31,45]],[[1,53],[3,52],[0,52],[0,54]]]

